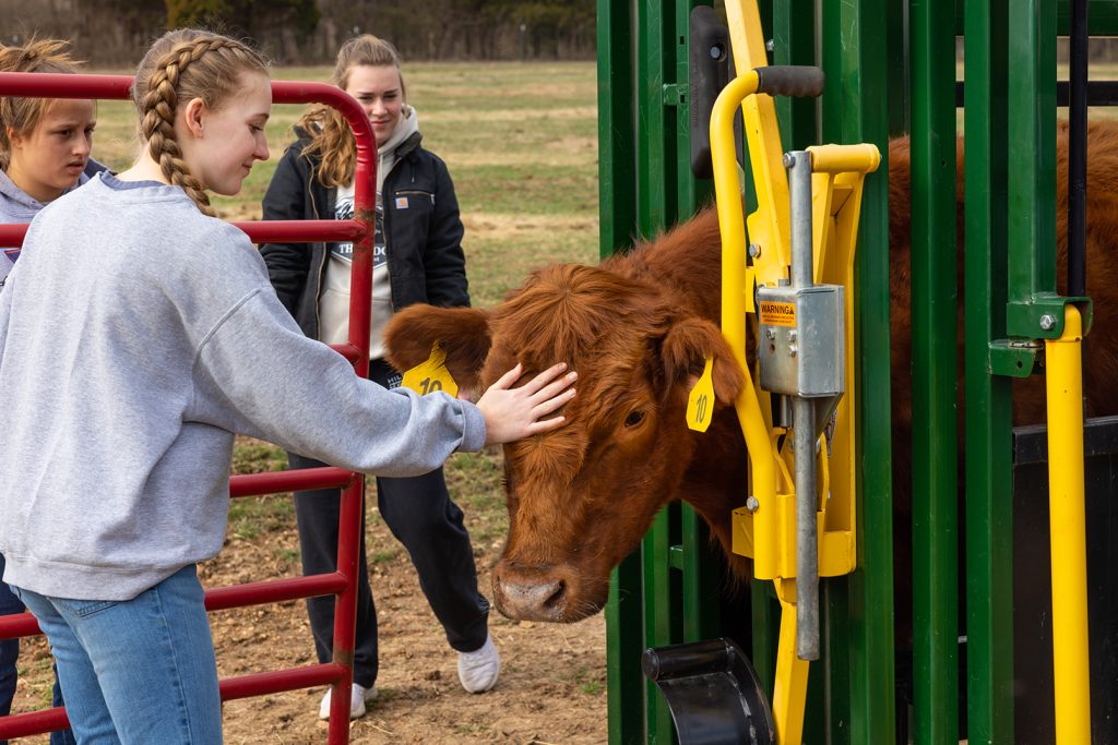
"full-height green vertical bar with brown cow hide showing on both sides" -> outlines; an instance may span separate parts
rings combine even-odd
[[[913,742],[953,745],[958,728],[955,19],[909,3],[912,80],[912,687]]]

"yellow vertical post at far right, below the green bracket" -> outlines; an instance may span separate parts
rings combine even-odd
[[[1063,334],[1058,340],[1044,342],[1057,745],[1086,745],[1091,742],[1082,338],[1079,309],[1069,305]]]

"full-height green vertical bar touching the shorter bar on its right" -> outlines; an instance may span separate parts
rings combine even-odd
[[[989,374],[989,344],[1005,334],[1007,3],[968,0],[965,13],[967,728],[968,742],[1008,745],[1014,742],[1011,399],[1010,381]]]

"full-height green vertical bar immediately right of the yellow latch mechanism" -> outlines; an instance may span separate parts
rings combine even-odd
[[[850,742],[892,743],[893,552],[889,389],[889,204],[887,0],[824,2],[823,101],[826,142],[870,142],[882,153],[878,173],[865,181],[854,283],[854,324],[860,373],[858,570],[834,602],[849,603]],[[866,453],[872,453],[872,457]],[[839,583],[834,583],[839,584]],[[832,719],[834,715],[832,716]]]

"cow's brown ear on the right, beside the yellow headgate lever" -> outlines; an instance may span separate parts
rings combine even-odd
[[[746,375],[722,332],[703,318],[691,316],[674,323],[661,345],[661,356],[667,379],[685,383],[688,390],[702,375],[707,359],[712,359],[714,399],[723,405],[732,403],[746,384]]]

